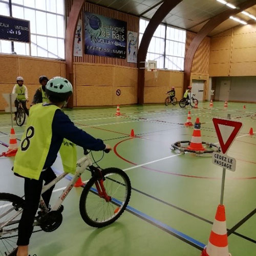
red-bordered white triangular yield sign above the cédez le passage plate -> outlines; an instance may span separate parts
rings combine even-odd
[[[221,151],[225,154],[231,146],[234,139],[237,137],[243,124],[226,119],[213,118],[215,130],[220,142]]]

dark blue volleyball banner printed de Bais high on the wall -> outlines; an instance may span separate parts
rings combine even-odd
[[[126,58],[126,22],[84,12],[84,52]]]

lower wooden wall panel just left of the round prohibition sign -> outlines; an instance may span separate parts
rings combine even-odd
[[[113,105],[112,86],[77,86],[77,106]]]

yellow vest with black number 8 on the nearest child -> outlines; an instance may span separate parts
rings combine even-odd
[[[56,105],[35,104],[30,108],[25,133],[14,159],[14,173],[38,180],[45,165],[52,141],[52,121]],[[63,169],[67,173],[76,170],[76,145],[64,139],[60,147]]]

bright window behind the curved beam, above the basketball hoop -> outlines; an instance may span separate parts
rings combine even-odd
[[[139,42],[148,25],[148,20],[140,19]],[[170,70],[184,70],[186,31],[160,24],[156,29],[146,60],[157,60],[157,67]]]

